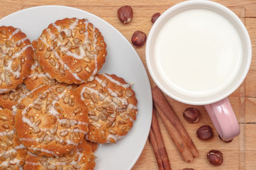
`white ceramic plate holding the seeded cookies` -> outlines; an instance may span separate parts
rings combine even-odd
[[[152,96],[148,75],[130,42],[103,19],[67,6],[38,6],[12,13],[0,20],[0,26],[21,28],[30,41],[38,38],[50,23],[62,18],[88,18],[99,28],[107,44],[108,55],[101,73],[116,74],[134,83],[138,115],[133,128],[116,145],[101,145],[96,150],[96,170],[131,169],[145,146],[152,118]],[[124,26],[125,27],[125,26]]]

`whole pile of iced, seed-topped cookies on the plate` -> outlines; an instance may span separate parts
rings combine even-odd
[[[51,23],[32,43],[0,27],[0,169],[94,169],[97,144],[128,133],[135,92],[99,74],[106,54],[87,19]]]

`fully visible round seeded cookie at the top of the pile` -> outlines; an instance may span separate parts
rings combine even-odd
[[[64,18],[43,30],[36,55],[52,79],[82,84],[92,81],[106,61],[106,43],[87,19]]]

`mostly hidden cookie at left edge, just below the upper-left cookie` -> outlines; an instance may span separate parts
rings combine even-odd
[[[26,97],[26,94],[29,92],[25,84],[20,84],[17,86],[15,91],[10,91],[7,94],[0,94],[0,106],[2,108],[13,109],[13,106],[16,106],[18,101]]]

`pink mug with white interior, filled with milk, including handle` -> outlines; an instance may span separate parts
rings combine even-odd
[[[198,13],[203,13],[203,15],[198,15]],[[198,25],[196,25],[196,23],[193,23],[193,22],[189,23],[190,19],[187,19],[187,18],[191,17],[191,19],[193,19],[196,16],[202,17],[203,19],[207,19],[207,22],[211,21],[213,23],[216,23],[216,25],[211,25],[211,23],[209,23],[209,27],[220,26],[221,30],[224,31],[225,29],[228,29],[228,32],[230,33],[235,30],[234,33],[235,33],[235,36],[238,37],[238,39],[234,39],[234,43],[235,43],[235,40],[238,40],[238,44],[240,45],[238,47],[240,49],[238,50],[238,52],[240,52],[238,60],[234,60],[232,58],[233,56],[235,57],[236,55],[238,55],[238,52],[235,50],[235,52],[231,51],[230,54],[232,55],[230,55],[228,59],[227,59],[227,55],[229,53],[225,53],[223,56],[221,56],[223,58],[220,58],[220,60],[216,62],[217,64],[221,65],[220,67],[221,69],[215,66],[216,64],[215,62],[213,62],[212,65],[211,63],[210,64],[208,63],[208,67],[214,67],[215,69],[218,69],[217,71],[220,73],[225,71],[226,66],[228,67],[228,64],[230,64],[229,62],[231,60],[232,61],[234,60],[237,66],[237,67],[234,66],[235,71],[232,74],[230,74],[233,76],[233,78],[229,79],[228,77],[227,80],[226,79],[221,80],[220,82],[223,83],[225,86],[223,85],[219,89],[213,89],[211,93],[208,93],[208,92],[204,93],[204,91],[200,91],[201,89],[204,89],[204,86],[200,87],[201,88],[200,89],[198,88],[198,86],[194,86],[193,83],[184,84],[183,76],[186,77],[187,74],[191,74],[191,73],[190,72],[182,73],[183,70],[179,69],[179,67],[181,66],[181,63],[184,63],[184,60],[185,61],[189,60],[191,62],[190,64],[188,63],[186,67],[184,67],[184,65],[181,66],[181,67],[184,67],[185,69],[187,69],[187,67],[193,67],[194,64],[197,64],[196,61],[199,61],[199,64],[201,64],[200,63],[201,60],[198,60],[197,55],[193,55],[193,54],[191,55],[192,57],[195,57],[195,58],[189,58],[190,56],[188,56],[191,54],[189,53],[190,51],[193,52],[194,49],[193,48],[190,49],[190,48],[193,47],[193,42],[197,43],[196,40],[186,39],[184,41],[184,39],[182,39],[183,38],[182,34],[177,40],[175,39],[175,36],[179,35],[179,31],[183,33],[182,31],[184,29],[190,29],[190,27],[194,29],[195,26],[198,27],[196,29],[200,30],[201,29],[200,26],[201,25],[204,26],[204,23],[199,23]],[[207,18],[208,16],[211,16],[213,18],[211,17]],[[217,18],[220,18],[219,19],[220,21],[218,21]],[[219,25],[218,25],[218,22],[220,22]],[[188,24],[186,25],[184,23],[189,23],[191,25],[188,25]],[[228,24],[228,26],[231,26],[232,29],[231,27],[229,28],[228,26],[225,28],[225,24]],[[179,26],[184,26],[184,27],[179,28]],[[201,34],[206,33],[204,32],[204,30],[205,29],[201,29],[199,33]],[[186,31],[187,30],[184,31],[184,34],[187,33]],[[209,30],[207,31],[211,32],[212,30],[209,28]],[[218,36],[221,35],[221,33],[222,32],[214,32],[214,31],[211,32],[211,34],[213,35],[213,39],[215,38],[215,36],[216,38],[218,38]],[[228,36],[228,34],[225,34],[223,36],[226,36],[226,35]],[[187,37],[189,38],[193,38],[193,36],[194,35],[190,36],[189,34],[187,34]],[[230,39],[227,39],[227,40],[230,40]],[[191,46],[186,46],[186,45],[184,47],[179,46],[179,44],[182,46],[187,42],[189,43],[190,41],[192,42],[191,44],[189,44]],[[199,42],[199,46],[201,45],[202,47],[205,47],[205,49],[211,50],[211,47],[208,48],[207,45],[200,44],[201,43],[200,38],[198,42]],[[208,55],[207,54],[208,51],[205,49],[202,49],[196,52],[206,51],[206,55]],[[230,49],[231,50],[237,49],[237,46],[233,46],[233,48],[228,46],[228,52],[230,52]],[[188,53],[188,55],[186,55],[186,52]],[[219,51],[217,51],[217,53],[219,54]],[[230,9],[226,8],[225,6],[213,1],[195,0],[195,1],[184,1],[182,3],[176,4],[171,8],[167,9],[167,11],[165,11],[164,13],[162,13],[162,15],[159,18],[157,18],[157,21],[153,24],[152,29],[150,30],[150,33],[148,35],[145,55],[146,55],[148,70],[150,72],[152,79],[155,81],[157,86],[159,86],[160,89],[165,94],[167,94],[167,96],[174,98],[175,100],[180,101],[182,103],[204,106],[213,122],[213,125],[218,131],[218,134],[221,136],[223,140],[231,140],[233,139],[233,137],[239,135],[240,127],[238,125],[238,120],[236,119],[233,109],[230,105],[230,102],[228,101],[228,96],[232,94],[233,91],[235,91],[235,89],[238,89],[238,87],[240,86],[240,84],[243,82],[243,80],[247,75],[247,72],[250,68],[251,58],[252,58],[252,45],[250,42],[250,36],[247,33],[247,30],[243,25],[243,22],[240,21],[240,18],[238,18],[238,16],[236,16],[235,13],[230,11]],[[176,55],[181,57],[175,58]],[[213,61],[215,61],[215,58]],[[232,67],[232,65],[229,65],[229,66]],[[191,69],[191,71],[194,71],[194,70]],[[199,74],[204,75],[203,73],[199,72]],[[194,73],[191,74],[191,76],[194,76]],[[215,76],[215,74],[213,76]],[[206,82],[209,80],[214,81],[216,80],[216,78],[214,78],[213,76],[206,75],[206,77],[202,78],[202,80],[199,79],[199,81],[202,81],[202,82],[204,81]],[[186,79],[189,79],[189,77],[186,77]],[[193,91],[193,90],[190,91],[190,89],[193,89],[193,88],[194,89],[198,88],[197,90],[199,90],[199,92]],[[213,86],[213,88],[215,87]]]

